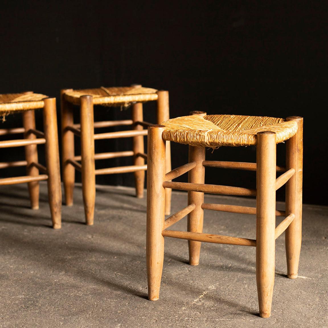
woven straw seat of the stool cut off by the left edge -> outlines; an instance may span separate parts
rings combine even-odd
[[[44,98],[48,98],[48,96],[41,93],[0,94],[0,115],[43,108],[44,101],[42,99]]]

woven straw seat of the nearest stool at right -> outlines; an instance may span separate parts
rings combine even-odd
[[[182,116],[162,123],[163,139],[199,147],[256,145],[256,133],[276,133],[277,143],[297,132],[295,121],[243,115]]]

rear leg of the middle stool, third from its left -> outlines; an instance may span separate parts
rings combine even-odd
[[[143,121],[142,103],[136,103],[132,106],[132,120],[134,130],[143,130],[141,125],[136,124],[138,121]],[[133,153],[134,153],[134,165],[144,165],[145,160],[138,154],[144,153],[144,137],[138,135],[133,137]],[[145,185],[145,171],[134,172],[136,196],[143,198],[144,185]]]

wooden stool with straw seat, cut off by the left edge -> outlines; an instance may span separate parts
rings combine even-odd
[[[34,110],[43,108],[44,132],[35,129]],[[27,166],[26,176],[0,179],[0,185],[28,183],[31,208],[39,208],[39,181],[48,180],[52,227],[61,228],[61,183],[56,99],[33,92],[0,94],[0,115],[21,112],[23,128],[1,129],[0,135],[24,133],[25,139],[0,141],[0,148],[25,146],[25,161],[3,162],[0,168]],[[45,144],[46,166],[38,163],[37,145]],[[39,174],[39,171],[42,174]]]

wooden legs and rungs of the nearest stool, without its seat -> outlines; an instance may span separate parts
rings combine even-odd
[[[205,116],[204,112],[191,115]],[[286,119],[297,122],[298,131],[286,141],[286,167],[276,166],[276,133],[257,133],[256,163],[205,160],[205,147],[189,146],[189,162],[165,174],[165,140],[163,125],[148,127],[147,171],[147,276],[148,297],[159,298],[164,260],[164,237],[187,239],[189,263],[198,265],[201,242],[256,247],[256,284],[259,314],[268,318],[271,314],[275,278],[275,240],[284,231],[287,257],[287,276],[295,279],[301,248],[302,221],[302,158],[303,118]],[[205,167],[256,171],[256,190],[204,184]],[[188,183],[172,182],[188,172]],[[276,172],[284,172],[276,178]],[[276,210],[276,190],[286,183],[286,209]],[[188,206],[165,220],[165,189],[188,191]],[[222,195],[256,196],[256,208],[204,203],[204,193]],[[203,210],[256,214],[256,240],[232,236],[204,234]],[[167,230],[188,215],[188,231]],[[276,227],[277,216],[285,219]]]

